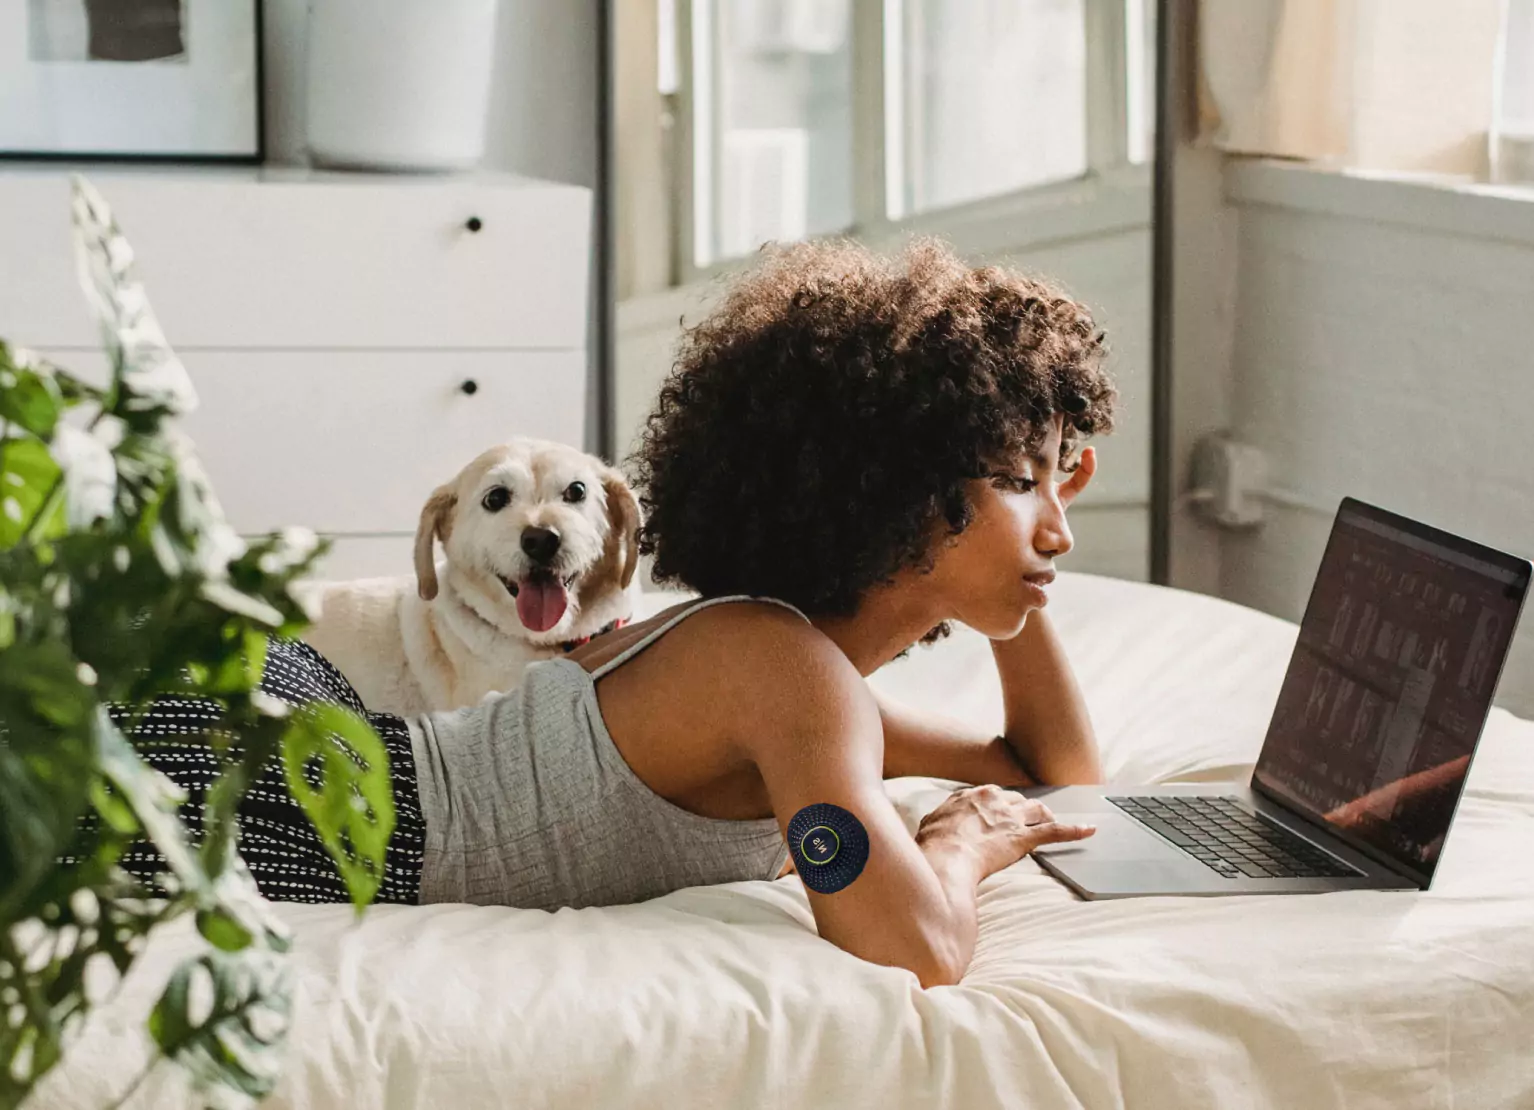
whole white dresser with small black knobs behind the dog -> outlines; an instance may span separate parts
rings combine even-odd
[[[305,170],[84,170],[198,391],[235,527],[334,538],[321,573],[408,573],[422,503],[511,435],[586,443],[591,193]],[[69,178],[0,173],[0,337],[104,371]]]

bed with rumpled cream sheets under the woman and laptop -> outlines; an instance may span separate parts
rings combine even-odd
[[[1295,626],[1069,573],[1049,612],[1114,780],[1250,770]],[[876,682],[1000,721],[974,635]],[[951,785],[888,790],[914,828]],[[982,885],[954,987],[821,941],[792,875],[555,914],[287,906],[295,1033],[268,1105],[1534,1107],[1531,845],[1534,722],[1494,710],[1433,891],[1083,903],[1023,860]],[[37,1107],[121,1093],[193,946],[158,937]],[[129,1102],[181,1104],[158,1073]]]

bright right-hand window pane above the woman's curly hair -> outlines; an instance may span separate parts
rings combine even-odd
[[[891,216],[1086,172],[1083,3],[888,0],[905,31]]]

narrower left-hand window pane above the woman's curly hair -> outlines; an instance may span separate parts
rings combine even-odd
[[[696,265],[851,225],[848,0],[693,0]]]

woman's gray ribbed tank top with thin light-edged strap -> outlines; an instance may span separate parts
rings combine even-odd
[[[410,722],[426,823],[420,901],[611,906],[684,886],[773,878],[788,859],[776,817],[724,820],[652,791],[607,734],[597,682],[692,613],[687,606],[594,672],[535,662],[480,705]],[[808,618],[804,618],[808,619]]]

